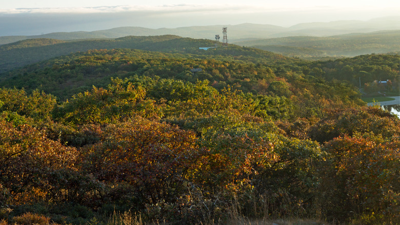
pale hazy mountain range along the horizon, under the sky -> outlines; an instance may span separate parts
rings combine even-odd
[[[150,29],[143,27],[119,27],[98,31],[56,32],[34,36],[0,36],[0,45],[26,39],[47,38],[58,40],[107,39],[123,36],[153,36],[173,34],[194,39],[214,40],[215,34],[222,36],[224,25],[179,27],[174,29]],[[370,21],[334,21],[328,23],[303,23],[288,28],[262,24],[228,25],[230,43],[254,39],[286,36],[332,36],[349,33],[366,33],[379,30],[400,30],[400,16],[375,18]]]

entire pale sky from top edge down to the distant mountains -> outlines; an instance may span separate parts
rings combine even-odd
[[[0,0],[0,36],[93,31],[123,26],[176,28],[299,23],[398,16],[396,0]]]

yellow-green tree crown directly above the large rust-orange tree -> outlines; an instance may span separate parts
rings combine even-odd
[[[79,93],[57,108],[55,117],[64,123],[106,125],[134,117],[162,116],[154,101],[145,97],[143,87],[134,88],[129,83],[127,86],[114,83],[108,89],[93,87],[90,92]]]

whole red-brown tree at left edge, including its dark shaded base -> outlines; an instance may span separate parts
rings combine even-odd
[[[75,148],[49,140],[43,130],[0,118],[0,183],[14,203],[75,199],[78,190],[87,191],[76,164]]]

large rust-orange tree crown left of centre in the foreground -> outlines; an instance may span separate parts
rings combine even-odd
[[[129,183],[153,201],[181,190],[201,155],[194,133],[142,118],[107,126],[82,153],[99,180]]]

